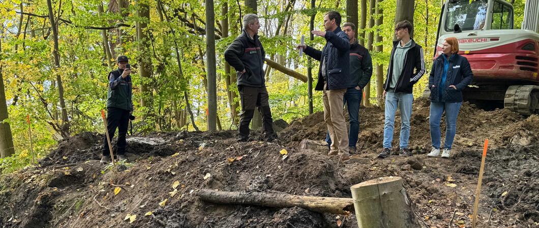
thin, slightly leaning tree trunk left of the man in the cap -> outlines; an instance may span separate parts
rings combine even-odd
[[[52,55],[54,56],[54,68],[55,68],[54,70],[56,71],[60,67],[60,53],[58,50],[58,24],[57,24],[56,19],[54,19],[51,0],[47,0],[47,8],[49,8],[49,21],[51,23],[52,38],[54,41],[54,48],[52,51]],[[66,109],[66,103],[64,100],[64,86],[62,85],[62,79],[60,77],[60,73],[56,73],[56,82],[58,85],[58,98],[60,100],[60,108],[61,108],[61,113],[62,113],[62,124],[61,124],[60,131],[63,137],[68,137],[70,123],[69,123],[69,119],[67,118],[67,109]]]

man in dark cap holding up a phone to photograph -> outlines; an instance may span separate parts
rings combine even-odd
[[[129,116],[133,113],[133,101],[131,100],[133,84],[131,83],[131,69],[126,69],[128,58],[125,55],[118,56],[118,69],[108,73],[107,95],[107,129],[110,142],[118,128],[118,142],[116,158],[126,159],[126,135]],[[110,163],[110,151],[107,136],[103,139],[103,156],[101,164]]]

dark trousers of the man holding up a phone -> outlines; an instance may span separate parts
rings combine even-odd
[[[127,126],[129,123],[129,110],[107,107],[107,129],[110,143],[114,138],[116,128],[118,128],[118,143],[116,144],[116,155],[124,155],[126,153],[126,135]],[[108,149],[107,135],[103,139],[103,156],[110,156]]]

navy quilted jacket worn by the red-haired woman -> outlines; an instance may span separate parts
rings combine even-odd
[[[462,90],[468,86],[473,79],[472,68],[468,59],[459,54],[453,54],[449,58],[449,67],[445,85],[440,85],[441,77],[444,74],[445,55],[440,55],[434,63],[429,76],[429,89],[431,90],[431,101],[436,102],[462,102]],[[434,87],[432,87],[434,85]],[[457,89],[450,88],[454,85]],[[441,97],[440,97],[440,90]]]

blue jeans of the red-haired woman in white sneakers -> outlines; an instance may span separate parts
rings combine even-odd
[[[440,148],[440,119],[445,111],[445,145],[444,148],[451,150],[453,139],[457,132],[457,116],[459,115],[462,102],[433,102],[431,101],[430,126],[432,147]]]

